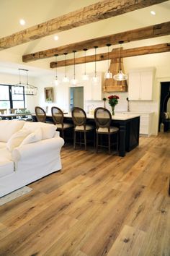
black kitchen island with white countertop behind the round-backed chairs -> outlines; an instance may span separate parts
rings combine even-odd
[[[86,114],[86,123],[95,126],[94,115]],[[32,115],[36,121],[36,116]],[[47,114],[47,119],[52,121],[51,114]],[[64,121],[72,122],[71,113],[64,114]],[[138,114],[121,113],[112,116],[112,126],[120,129],[119,155],[125,156],[126,152],[133,150],[139,145],[140,116]]]

